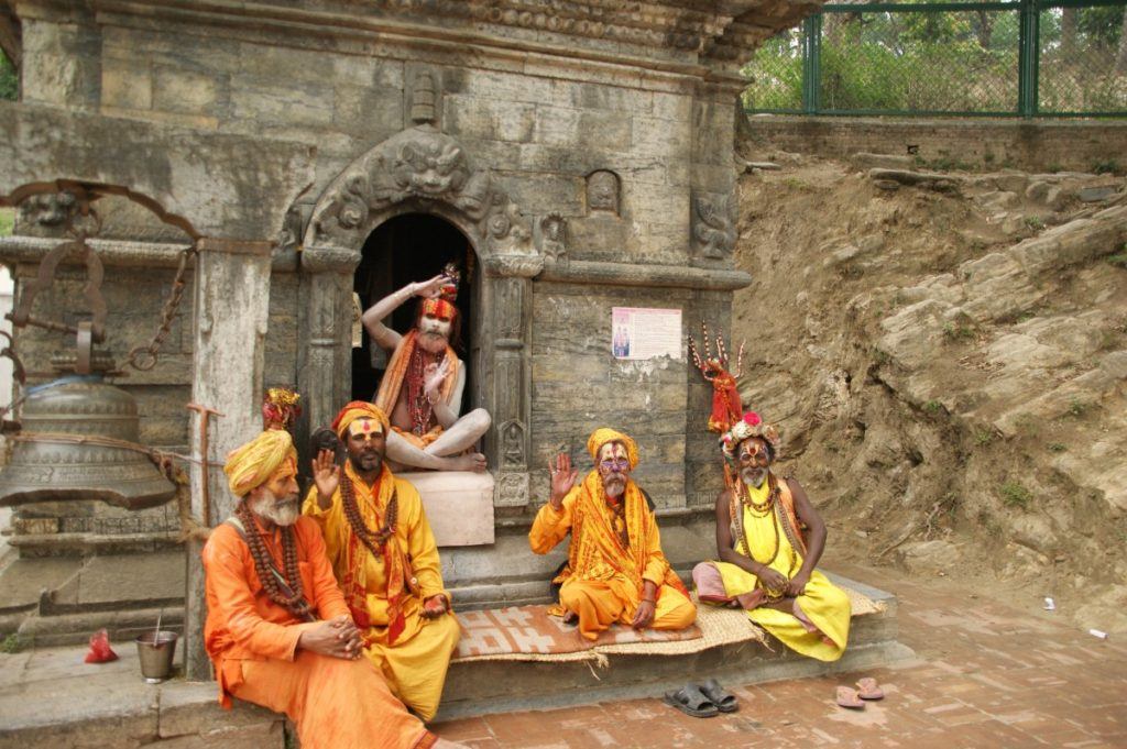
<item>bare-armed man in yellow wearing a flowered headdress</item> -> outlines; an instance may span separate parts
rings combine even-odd
[[[826,543],[822,517],[798,481],[771,471],[778,431],[748,412],[720,446],[736,480],[716,502],[720,559],[693,569],[698,597],[745,609],[804,656],[837,660],[849,641],[849,596],[815,569]]]

